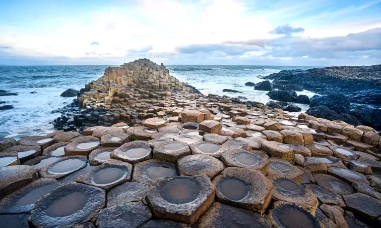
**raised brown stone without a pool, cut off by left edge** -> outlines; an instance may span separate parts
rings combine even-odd
[[[32,166],[0,167],[0,198],[39,178]]]

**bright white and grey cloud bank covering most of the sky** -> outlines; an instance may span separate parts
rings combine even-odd
[[[300,58],[306,62],[314,58],[369,56],[361,57],[366,60],[380,57],[380,49],[372,49],[378,46],[374,38],[379,33],[355,33],[381,27],[381,18],[330,25],[318,24],[316,19],[355,13],[380,1],[298,19],[326,1],[281,1],[262,7],[266,2],[141,0],[128,7],[121,4],[101,11],[84,11],[80,18],[56,20],[57,25],[45,34],[0,25],[0,46],[9,47],[1,48],[9,56],[57,58],[70,63],[93,60],[95,64],[120,64],[119,61],[135,57],[167,64],[196,64],[203,59],[211,64],[247,64],[241,60],[256,64],[254,60],[290,62]],[[44,28],[44,24],[39,26]],[[298,32],[303,33],[291,36]]]

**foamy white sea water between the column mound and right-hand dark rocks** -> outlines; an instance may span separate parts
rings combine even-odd
[[[271,99],[266,96],[268,91],[256,91],[254,87],[245,86],[245,83],[258,83],[264,81],[259,75],[267,76],[281,70],[302,69],[307,70],[316,67],[306,66],[227,66],[227,65],[169,65],[169,73],[181,82],[187,82],[202,94],[209,93],[230,97],[245,96],[248,100],[266,104]],[[241,91],[223,92],[223,89]],[[311,91],[297,91],[298,95],[305,94],[312,97],[316,93]],[[302,112],[309,108],[305,104],[296,104],[302,108]]]

